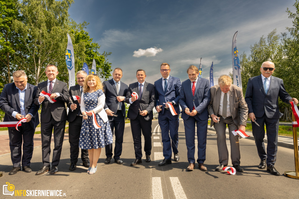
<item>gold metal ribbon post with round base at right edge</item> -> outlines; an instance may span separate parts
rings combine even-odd
[[[295,122],[294,113],[292,113],[292,121]],[[295,171],[286,171],[284,175],[287,177],[299,179],[299,160],[298,160],[298,139],[297,127],[293,127],[293,140],[294,140],[294,157],[295,157]]]

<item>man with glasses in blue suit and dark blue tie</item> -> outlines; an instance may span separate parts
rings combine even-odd
[[[161,128],[161,136],[163,143],[163,156],[164,160],[160,162],[159,166],[171,164],[171,156],[173,151],[173,160],[179,161],[179,97],[181,90],[181,81],[177,77],[172,77],[170,73],[170,65],[162,63],[160,66],[160,73],[162,78],[155,81],[156,91],[156,110],[159,113],[158,123]],[[173,105],[177,115],[172,115],[169,110],[168,104]],[[171,150],[172,149],[172,150]]]

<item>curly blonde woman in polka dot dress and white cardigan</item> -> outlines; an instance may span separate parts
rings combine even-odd
[[[107,114],[104,110],[105,95],[103,85],[97,75],[88,75],[84,80],[83,96],[81,100],[81,112],[83,116],[80,133],[79,147],[88,149],[90,167],[89,174],[97,171],[97,161],[99,160],[101,149],[112,143],[112,132]],[[96,116],[97,124],[100,128],[95,128],[93,123],[93,113]]]

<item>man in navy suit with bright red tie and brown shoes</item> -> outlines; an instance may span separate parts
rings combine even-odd
[[[187,146],[187,157],[189,166],[187,170],[192,171],[195,167],[195,124],[197,127],[197,163],[199,169],[206,171],[204,165],[208,132],[208,104],[210,102],[210,82],[208,79],[200,78],[196,66],[190,65],[187,69],[189,79],[182,82],[179,104],[184,120],[185,137]]]

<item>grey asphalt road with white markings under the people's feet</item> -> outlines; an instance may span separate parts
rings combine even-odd
[[[12,168],[10,156],[0,157],[0,170],[4,171],[4,176],[0,177],[0,185],[9,182],[15,186],[15,192],[16,190],[62,190],[62,195],[65,193],[62,197],[48,198],[298,198],[299,180],[283,175],[285,171],[295,169],[292,149],[278,147],[275,167],[281,175],[274,176],[266,169],[257,168],[260,160],[254,141],[240,139],[241,166],[244,172],[230,175],[227,172],[215,171],[216,166],[219,165],[216,136],[210,135],[215,134],[214,131],[208,131],[205,161],[208,171],[200,171],[196,163],[196,169],[188,172],[183,120],[180,120],[179,126],[180,160],[167,166],[158,166],[159,157],[163,157],[161,157],[162,147],[158,146],[161,143],[161,134],[157,125],[158,121],[153,121],[154,134],[150,163],[145,162],[143,153],[143,162],[137,166],[130,166],[130,163],[135,160],[135,155],[131,128],[126,125],[122,165],[114,163],[114,159],[110,164],[105,165],[103,162],[106,156],[105,151],[102,150],[95,174],[87,174],[80,159],[77,169],[71,172],[68,170],[70,157],[69,143],[66,140],[63,143],[59,171],[54,175],[49,173],[35,175],[42,166],[41,147],[33,151],[31,168],[34,172],[31,173],[20,171],[15,175],[8,175]],[[228,139],[227,145],[229,146]],[[54,148],[53,144],[51,148]],[[11,197],[1,193],[0,198]]]

